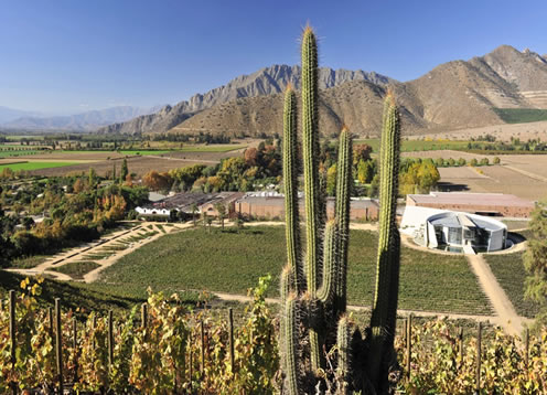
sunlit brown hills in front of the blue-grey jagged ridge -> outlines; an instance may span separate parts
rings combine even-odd
[[[547,108],[547,61],[508,45],[441,64],[410,82],[388,84],[401,106],[407,135],[503,124],[493,108]],[[351,81],[321,90],[323,130],[336,131],[344,122],[357,135],[377,135],[385,87],[385,82]],[[171,131],[279,132],[281,103],[279,96],[238,98],[197,113]]]

